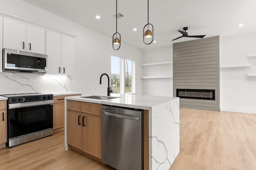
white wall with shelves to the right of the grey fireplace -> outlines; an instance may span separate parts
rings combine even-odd
[[[256,33],[256,32],[255,32]],[[248,64],[252,67],[233,67],[220,69],[220,109],[256,113],[256,34],[220,36],[220,67],[225,65]]]

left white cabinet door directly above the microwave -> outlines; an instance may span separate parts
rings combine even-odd
[[[26,51],[26,24],[4,18],[4,48]]]

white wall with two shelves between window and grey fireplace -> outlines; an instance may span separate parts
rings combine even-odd
[[[172,45],[143,50],[143,63],[164,61],[172,61]],[[142,69],[143,76],[172,76],[172,64],[144,66]],[[143,79],[143,95],[172,97],[172,86],[172,78]]]

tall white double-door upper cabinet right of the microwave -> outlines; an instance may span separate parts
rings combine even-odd
[[[74,38],[46,31],[48,75],[74,75]]]

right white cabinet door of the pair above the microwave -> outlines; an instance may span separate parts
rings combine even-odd
[[[45,30],[27,26],[27,51],[45,54]]]

